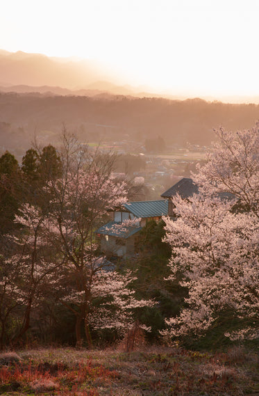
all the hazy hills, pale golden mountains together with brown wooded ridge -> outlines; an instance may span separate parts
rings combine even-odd
[[[252,127],[257,104],[172,100],[108,81],[99,65],[0,50],[0,146],[19,155],[34,136],[56,143],[65,125],[81,141],[162,137],[167,145],[210,145],[212,132]]]

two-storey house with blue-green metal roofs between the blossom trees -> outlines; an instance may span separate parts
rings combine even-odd
[[[111,221],[96,231],[101,241],[101,251],[121,258],[132,257],[140,230],[148,221],[158,222],[167,214],[167,199],[124,203],[110,212]]]

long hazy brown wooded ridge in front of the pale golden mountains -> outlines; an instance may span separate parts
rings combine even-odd
[[[0,120],[26,134],[41,134],[43,130],[58,132],[65,123],[76,129],[81,140],[135,140],[161,136],[168,144],[190,143],[209,145],[212,129],[223,125],[227,129],[243,129],[258,119],[257,104],[224,104],[200,99],[166,100],[133,98],[0,94]],[[2,125],[3,127],[3,125]],[[3,142],[9,132],[0,127]],[[13,137],[13,136],[12,136]],[[29,138],[29,139],[30,139]],[[5,143],[1,143],[5,145]]]

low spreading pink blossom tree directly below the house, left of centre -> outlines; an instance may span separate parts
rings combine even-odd
[[[87,304],[87,324],[94,330],[115,329],[119,335],[125,335],[135,324],[135,311],[152,307],[154,303],[136,298],[135,290],[131,288],[136,279],[132,271],[122,274],[111,263],[107,267],[106,259],[101,257],[96,258],[95,267],[97,271],[92,276],[92,284],[88,283],[90,294],[86,296],[85,290],[70,287],[62,301],[76,308]],[[150,331],[144,324],[140,324],[140,328]]]

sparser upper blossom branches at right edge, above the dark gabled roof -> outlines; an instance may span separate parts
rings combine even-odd
[[[228,132],[215,131],[218,141],[208,162],[194,177],[199,187],[216,193],[232,193],[240,209],[259,216],[259,123],[251,129]]]

